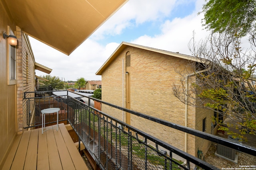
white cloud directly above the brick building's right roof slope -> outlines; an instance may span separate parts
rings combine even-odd
[[[190,55],[188,43],[192,38],[193,31],[196,33],[196,40],[204,39],[208,33],[202,29],[202,15],[198,15],[197,4],[196,10],[184,18],[174,18],[174,20],[166,20],[161,27],[161,34],[149,37],[143,35],[132,41],[132,43],[140,44],[157,49],[163,49],[172,52],[179,52]]]

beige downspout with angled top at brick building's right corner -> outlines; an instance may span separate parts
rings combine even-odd
[[[185,78],[185,80],[186,80],[186,84],[185,84],[185,88],[186,88],[186,95],[185,95],[185,127],[188,127],[188,77],[194,76],[194,75],[202,73],[202,72],[206,72],[208,70],[209,69],[204,69],[204,70],[201,70],[201,71],[190,73]],[[188,147],[187,147],[188,134],[187,133],[185,133],[185,142],[184,143],[185,143],[184,152],[187,152],[188,151]],[[186,162],[187,161],[185,160],[184,164],[186,164]]]

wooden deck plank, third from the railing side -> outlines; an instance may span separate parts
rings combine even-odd
[[[56,130],[49,129],[48,131],[46,131],[48,157],[49,157],[50,169],[57,170],[57,169],[60,169],[60,167],[62,167],[62,164],[60,162],[60,156],[59,156],[53,131],[56,131]],[[60,131],[58,131],[57,133],[60,133]]]

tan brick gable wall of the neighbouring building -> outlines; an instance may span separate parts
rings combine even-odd
[[[125,56],[130,51],[130,106],[159,119],[185,125],[185,105],[172,94],[173,82],[179,84],[180,71],[188,69],[188,60],[136,47],[127,47],[102,73],[102,100],[125,107]],[[191,72],[191,71],[190,71]],[[124,82],[123,82],[124,76]],[[123,102],[124,101],[124,102]],[[102,111],[120,120],[125,113],[102,105]],[[196,127],[196,108],[188,106],[188,127]],[[158,139],[184,150],[185,133],[131,115],[131,125]],[[187,152],[196,156],[195,137],[188,135]]]

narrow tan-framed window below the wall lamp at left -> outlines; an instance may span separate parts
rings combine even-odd
[[[14,33],[8,27],[8,35],[14,35]],[[7,41],[8,42],[8,41]],[[8,44],[8,85],[16,84],[16,46]]]

